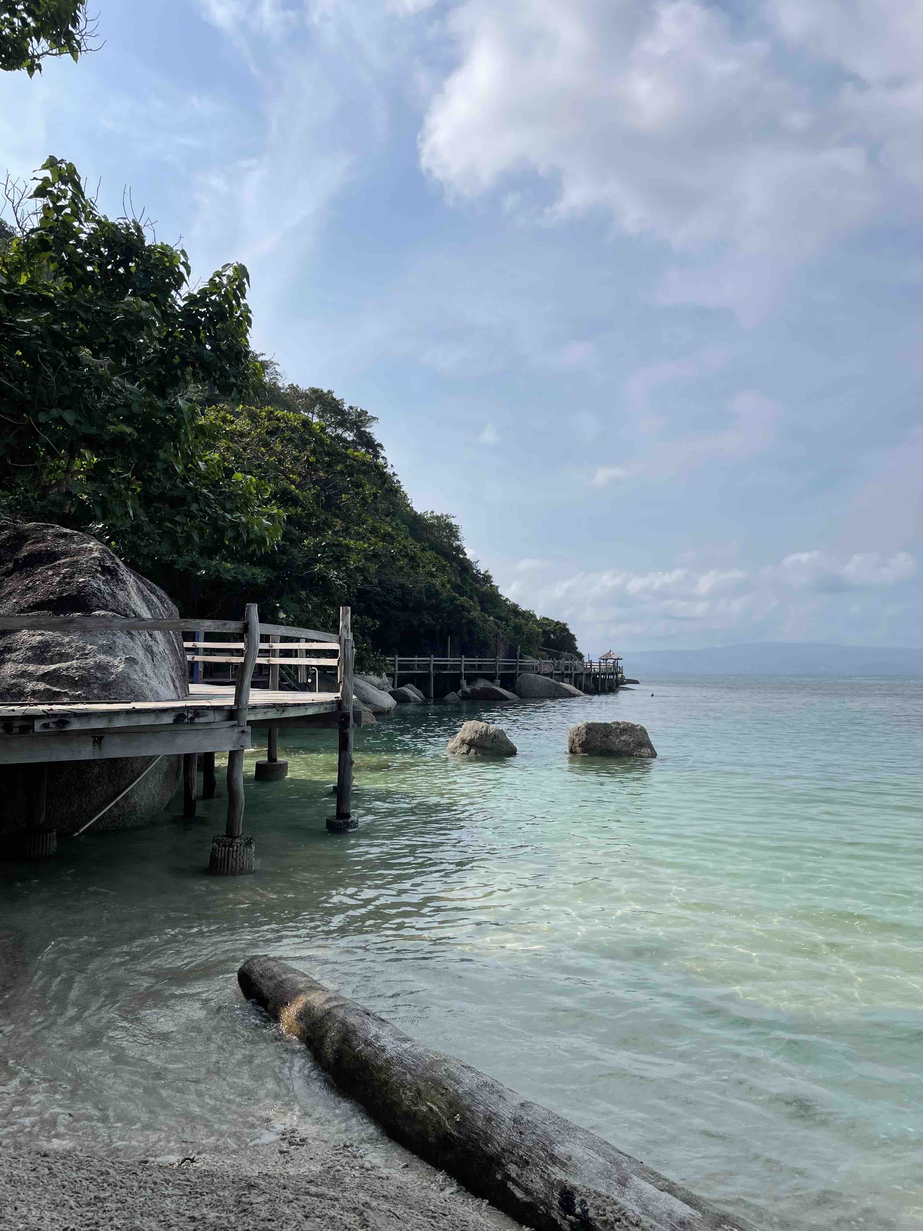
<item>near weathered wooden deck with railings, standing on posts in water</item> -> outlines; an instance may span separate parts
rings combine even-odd
[[[0,630],[30,629],[44,633],[135,632],[192,634],[183,643],[187,661],[193,664],[199,682],[190,686],[188,696],[175,700],[150,702],[66,702],[58,704],[16,704],[0,702],[0,764],[32,764],[33,798],[30,827],[23,836],[31,854],[50,853],[55,840],[44,828],[46,784],[41,767],[60,761],[96,761],[111,757],[151,757],[144,772],[89,821],[89,828],[114,803],[128,793],[164,756],[183,757],[183,811],[196,815],[196,767],[203,758],[203,796],[215,789],[214,755],[228,753],[228,820],[225,832],[212,843],[209,870],[244,873],[254,870],[254,840],[245,837],[244,825],[244,752],[252,746],[254,728],[268,730],[268,772],[263,778],[284,777],[286,762],[277,757],[281,726],[336,726],[338,730],[338,772],[336,815],[327,820],[335,832],[356,828],[351,815],[353,729],[361,723],[353,710],[353,641],[348,607],[340,609],[340,633],[282,624],[261,624],[255,604],[246,607],[242,620],[132,619],[106,616],[5,616]],[[208,634],[223,634],[225,640],[207,640]],[[228,636],[234,640],[226,640]],[[201,682],[202,664],[236,666],[233,687]],[[257,666],[267,666],[267,688],[254,688]],[[314,691],[279,689],[279,668],[297,672],[306,683],[314,671]],[[337,676],[336,692],[321,692],[320,672]],[[284,767],[284,768],[283,768]],[[79,832],[82,832],[80,830]]]

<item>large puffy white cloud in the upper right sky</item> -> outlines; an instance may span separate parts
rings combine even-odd
[[[769,0],[763,20],[732,20],[704,0],[465,0],[421,161],[457,198],[496,188],[507,208],[538,193],[549,219],[602,212],[683,259],[663,300],[754,315],[795,265],[893,206],[896,183],[923,187],[921,10],[881,10]]]

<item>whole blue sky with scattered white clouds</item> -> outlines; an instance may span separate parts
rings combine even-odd
[[[97,0],[0,171],[130,188],[592,654],[923,645],[918,0]]]

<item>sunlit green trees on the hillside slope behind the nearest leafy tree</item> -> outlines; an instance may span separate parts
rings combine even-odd
[[[538,654],[538,617],[471,560],[454,518],[412,507],[380,443],[368,439],[374,419],[268,371],[258,405],[209,415],[226,471],[252,474],[284,512],[278,545],[271,555],[170,567],[156,580],[199,614],[246,598],[282,620],[330,629],[348,604],[368,666],[380,652],[444,652],[449,638],[455,652]]]

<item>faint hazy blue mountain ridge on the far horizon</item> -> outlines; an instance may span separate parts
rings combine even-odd
[[[626,676],[921,676],[923,649],[757,641],[706,650],[633,650]]]

